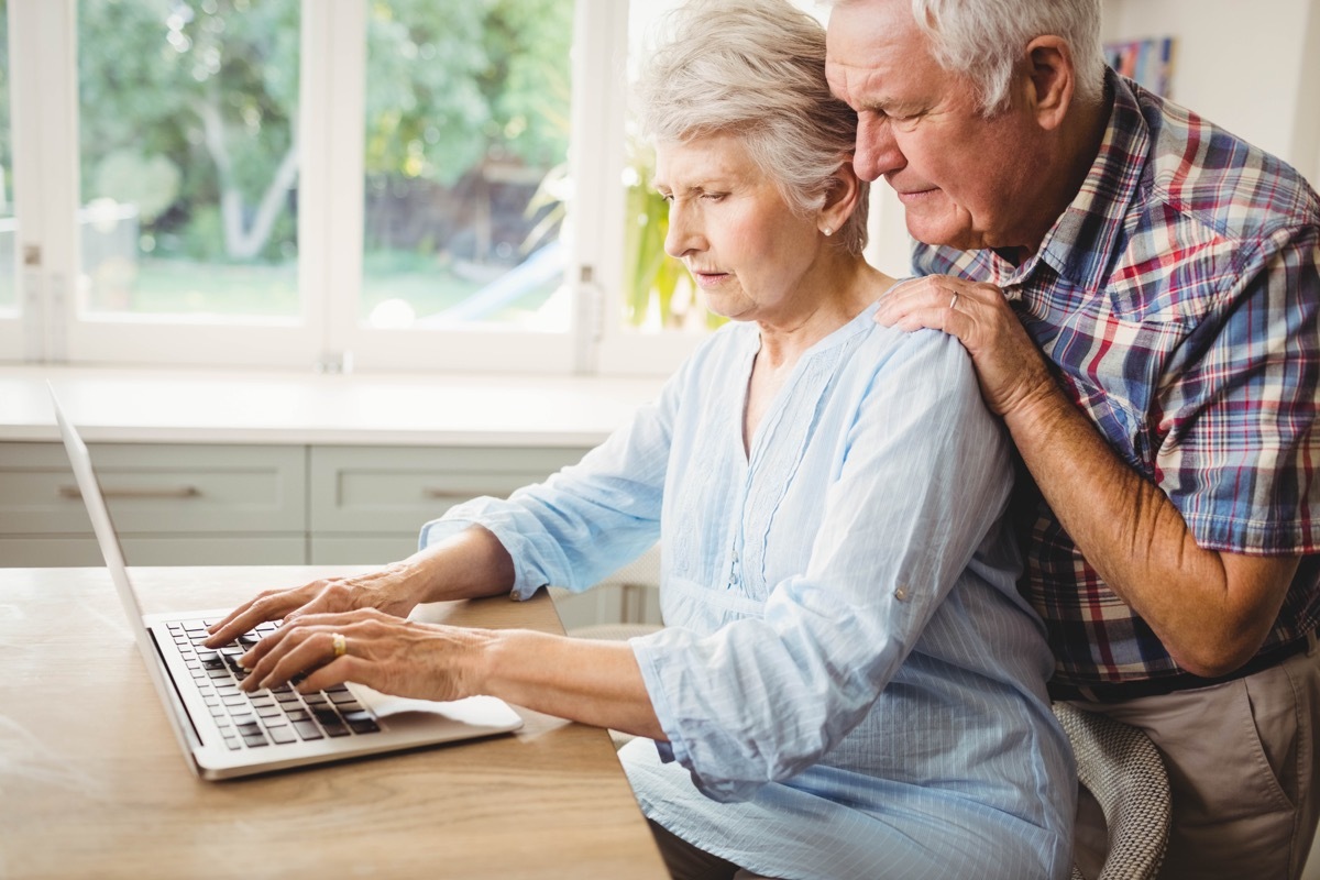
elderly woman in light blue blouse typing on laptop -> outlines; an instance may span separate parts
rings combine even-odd
[[[733,322],[578,466],[451,509],[375,574],[264,594],[211,644],[285,617],[247,686],[494,694],[636,734],[620,757],[676,876],[1065,876],[1074,776],[1005,435],[956,339],[871,319],[895,281],[861,257],[821,28],[784,0],[673,24],[639,86],[667,249]],[[657,537],[647,637],[403,620],[583,590]]]

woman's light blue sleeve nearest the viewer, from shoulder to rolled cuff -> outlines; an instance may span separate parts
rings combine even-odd
[[[816,764],[866,716],[1005,509],[1007,441],[956,339],[906,335],[861,387],[809,563],[764,616],[631,643],[673,757],[715,800]]]

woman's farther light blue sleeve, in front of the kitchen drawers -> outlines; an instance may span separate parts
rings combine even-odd
[[[680,373],[659,401],[544,483],[507,500],[479,497],[422,526],[420,545],[473,525],[490,529],[513,558],[516,599],[540,587],[586,590],[648,550],[660,537],[660,504]]]

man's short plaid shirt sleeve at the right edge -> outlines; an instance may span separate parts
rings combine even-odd
[[[1214,321],[1166,371],[1156,479],[1206,549],[1320,550],[1320,227],[1239,249]]]

